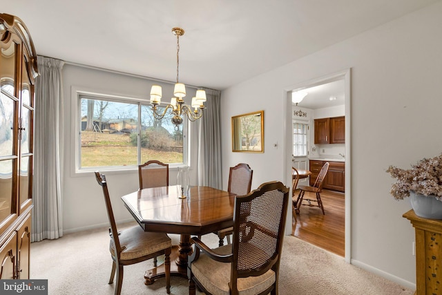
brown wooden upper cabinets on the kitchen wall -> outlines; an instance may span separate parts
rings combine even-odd
[[[314,120],[315,144],[345,144],[345,116]]]

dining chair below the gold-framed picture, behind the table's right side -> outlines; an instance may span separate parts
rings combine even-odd
[[[251,179],[253,177],[253,170],[248,164],[240,163],[234,167],[230,167],[229,171],[229,185],[227,191],[235,193],[238,196],[247,195],[251,190]],[[215,234],[220,239],[220,247],[224,245],[224,238],[227,238],[227,244],[230,244],[230,236],[233,232],[233,227],[227,229],[220,229]]]

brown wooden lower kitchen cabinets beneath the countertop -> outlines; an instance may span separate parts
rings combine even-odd
[[[323,165],[329,162],[329,170],[323,182],[323,189],[345,192],[345,162],[309,160],[310,186],[313,186]]]

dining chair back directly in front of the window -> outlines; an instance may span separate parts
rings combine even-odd
[[[169,186],[169,164],[157,160],[148,160],[138,166],[140,189]]]

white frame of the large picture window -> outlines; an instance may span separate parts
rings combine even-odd
[[[111,102],[122,102],[122,103],[131,103],[131,104],[137,104],[139,106],[138,108],[138,116],[140,117],[140,110],[141,105],[149,105],[149,102],[146,101],[146,99],[139,98],[139,97],[124,97],[120,95],[109,95],[105,93],[98,93],[96,91],[86,91],[81,90],[80,88],[77,88],[73,86],[71,88],[71,97],[72,102],[71,106],[72,109],[75,110],[73,113],[73,116],[71,117],[71,126],[74,132],[73,132],[73,149],[75,149],[75,157],[73,157],[73,160],[71,164],[75,169],[73,169],[74,175],[75,174],[81,174],[81,173],[90,173],[93,171],[96,171],[99,169],[100,171],[128,171],[128,170],[137,170],[138,164],[141,161],[141,155],[140,155],[140,133],[138,133],[138,144],[137,144],[137,163],[136,165],[127,165],[127,166],[95,166],[95,167],[81,167],[80,159],[81,159],[81,140],[80,140],[80,134],[81,134],[81,97],[91,97],[94,99],[106,99]],[[164,104],[165,106],[166,104]],[[182,130],[183,130],[183,162],[182,163],[173,163],[169,164],[169,169],[173,169],[175,167],[187,165],[190,166],[190,128],[189,128],[189,122],[188,120],[183,120],[182,122]],[[141,122],[139,120],[138,124],[140,125]],[[139,126],[140,130],[140,126]]]

